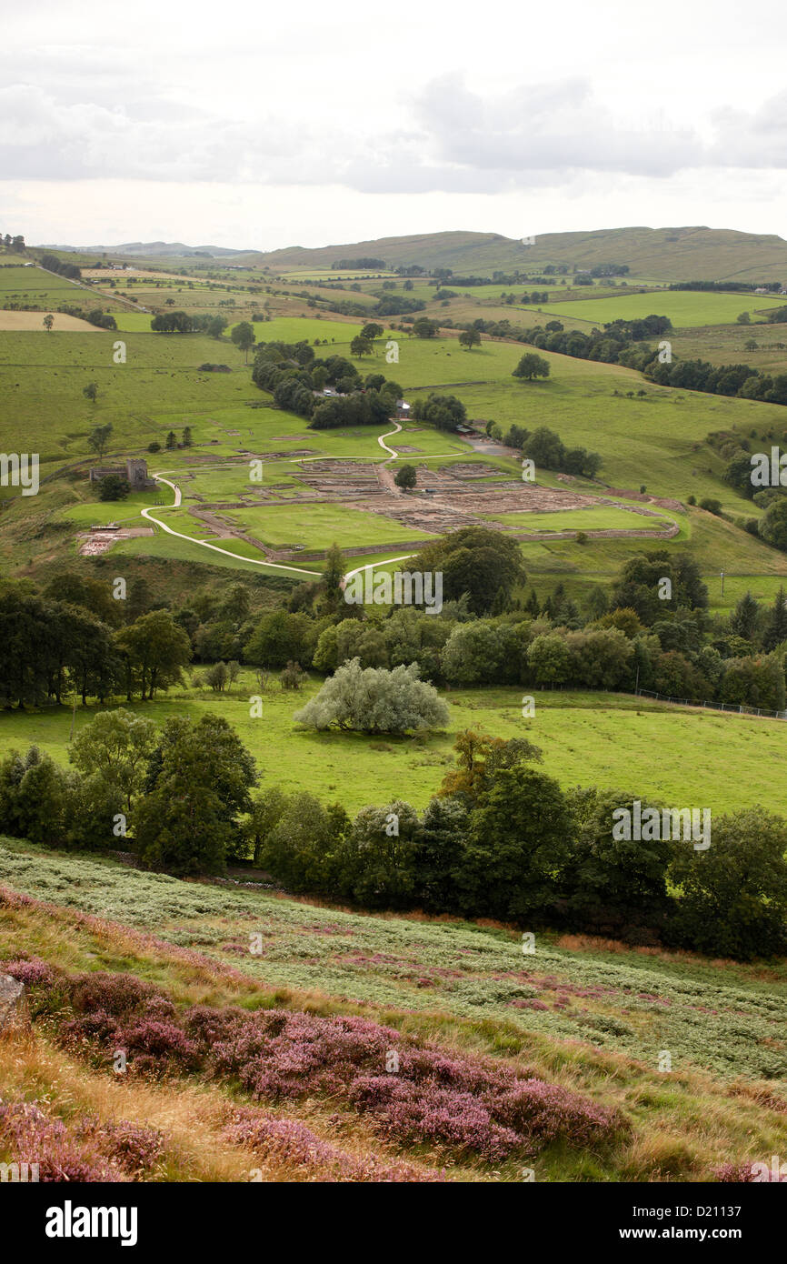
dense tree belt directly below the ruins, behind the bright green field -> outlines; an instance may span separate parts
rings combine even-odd
[[[330,676],[357,659],[361,670],[416,666],[422,681],[438,686],[639,686],[692,702],[786,707],[784,592],[767,605],[745,593],[731,614],[711,614],[686,554],[649,550],[629,559],[609,590],[591,585],[575,599],[558,584],[539,602],[533,589],[527,595],[517,541],[466,527],[426,542],[409,570],[441,574],[440,613],[347,604],[346,562],[335,545],[311,584],[267,580],[250,590],[237,583],[179,605],[154,602],[140,578],[124,600],[110,581],[71,573],[43,592],[8,580],[0,705],[64,705],[75,694],[83,704],[144,702],[182,683],[191,664],[263,672],[292,665],[297,686],[304,670]],[[282,593],[289,595],[282,600]]]

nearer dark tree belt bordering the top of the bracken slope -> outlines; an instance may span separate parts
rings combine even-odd
[[[71,743],[69,769],[37,747],[3,760],[0,830],[51,847],[133,846],[143,866],[178,876],[246,861],[291,892],[369,910],[494,918],[744,961],[787,948],[779,817],[755,808],[716,818],[702,851],[675,828],[625,839],[614,828],[620,809],[639,803],[643,819],[653,808],[664,819],[652,795],[565,791],[526,738],[466,729],[455,751],[423,813],[397,799],[351,819],[308,793],[258,791],[255,761],[221,717],[158,727],[102,712]]]

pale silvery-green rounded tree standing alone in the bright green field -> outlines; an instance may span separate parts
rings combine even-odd
[[[316,729],[337,724],[361,733],[407,733],[445,728],[448,708],[432,685],[418,679],[417,664],[361,669],[359,659],[345,662],[293,719]]]

